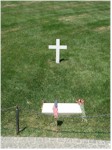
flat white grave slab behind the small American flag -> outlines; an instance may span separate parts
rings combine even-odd
[[[42,113],[53,114],[54,103],[43,103]],[[80,114],[82,110],[77,103],[58,103],[59,114]]]

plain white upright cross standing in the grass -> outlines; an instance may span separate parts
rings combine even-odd
[[[49,49],[56,49],[56,63],[60,63],[60,49],[67,49],[67,45],[60,45],[60,39],[56,39],[56,45],[49,45]]]

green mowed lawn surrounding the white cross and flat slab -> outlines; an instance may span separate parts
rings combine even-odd
[[[62,129],[66,126],[72,134],[35,131],[49,129],[53,117],[31,111],[41,112],[42,100],[72,103],[83,98],[87,116],[110,113],[110,2],[1,2],[1,16],[1,107],[22,108],[21,120],[28,128],[20,136],[83,137],[72,132],[81,121],[73,126],[69,118]],[[68,46],[61,50],[60,64],[55,50],[48,49],[57,38]],[[2,113],[2,135],[15,135],[14,116],[14,110]],[[91,132],[88,138],[102,138],[92,135],[99,126],[109,131],[109,120],[97,121],[82,123]]]

